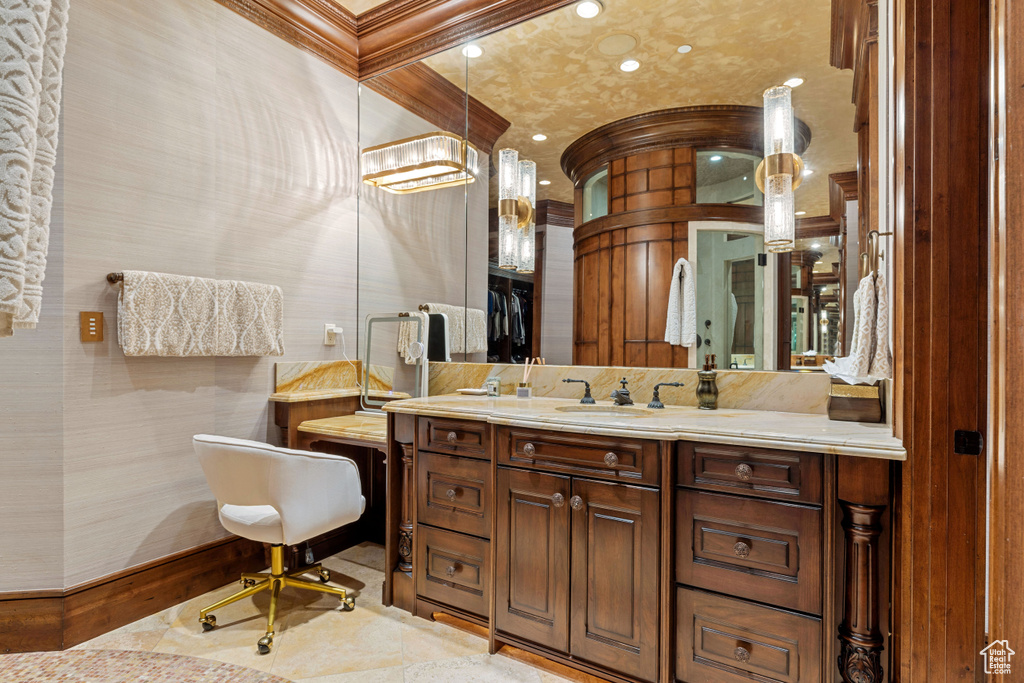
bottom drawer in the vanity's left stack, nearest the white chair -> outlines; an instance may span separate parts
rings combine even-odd
[[[487,616],[490,544],[472,536],[416,527],[416,592],[418,595]]]

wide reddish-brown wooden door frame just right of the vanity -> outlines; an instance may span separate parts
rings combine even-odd
[[[895,482],[887,673],[902,683],[983,676],[985,460],[957,453],[954,431],[986,429],[987,5],[889,5],[896,112],[893,408],[907,460]]]

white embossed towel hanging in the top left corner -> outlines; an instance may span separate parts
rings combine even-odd
[[[0,0],[0,337],[43,296],[68,0]]]

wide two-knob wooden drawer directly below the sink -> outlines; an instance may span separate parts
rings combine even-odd
[[[657,441],[647,439],[506,427],[498,432],[498,462],[630,483],[658,482]]]

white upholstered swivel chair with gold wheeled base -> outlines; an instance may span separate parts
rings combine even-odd
[[[237,600],[270,591],[266,635],[260,654],[273,644],[278,596],[286,586],[337,595],[346,610],[355,607],[343,588],[326,586],[330,572],[319,564],[285,572],[285,546],[302,543],[354,522],[366,508],[358,468],[348,458],[309,451],[278,449],[267,443],[199,434],[193,446],[217,499],[220,523],[244,539],[270,544],[270,572],[244,573],[245,588],[199,613],[204,631],[217,625],[210,612]],[[300,579],[317,572],[322,583]]]

